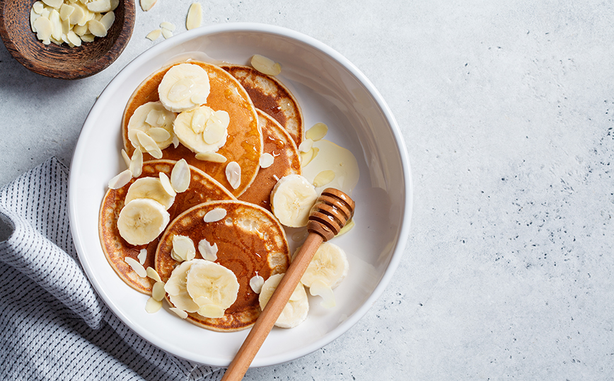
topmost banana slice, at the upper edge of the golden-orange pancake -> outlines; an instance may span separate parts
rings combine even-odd
[[[207,103],[209,91],[209,75],[195,64],[171,67],[158,85],[160,101],[166,109],[175,113],[194,110]]]

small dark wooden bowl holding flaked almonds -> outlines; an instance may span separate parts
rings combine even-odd
[[[30,8],[35,0],[0,0],[0,37],[8,52],[31,71],[59,79],[79,79],[96,74],[120,56],[134,29],[134,0],[122,0],[115,22],[103,38],[44,45],[30,28]]]

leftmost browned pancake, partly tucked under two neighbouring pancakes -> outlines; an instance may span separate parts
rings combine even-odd
[[[170,177],[175,161],[170,160],[154,160],[143,163],[142,177],[156,177],[160,172],[164,172]],[[174,217],[180,215],[190,207],[199,203],[204,203],[209,200],[233,200],[233,195],[226,190],[220,183],[215,181],[211,176],[203,171],[190,168],[190,187],[183,193],[177,193],[175,202],[168,209],[171,221]],[[146,245],[134,246],[125,241],[117,229],[117,218],[120,215],[124,200],[128,192],[128,188],[134,183],[136,178],[133,178],[127,185],[119,189],[109,189],[103,198],[102,206],[100,207],[100,217],[98,220],[98,234],[100,243],[103,246],[103,251],[107,261],[115,270],[115,273],[122,280],[139,292],[151,294],[151,288],[154,286],[154,280],[150,278],[141,278],[132,270],[124,259],[131,257],[138,261],[137,256],[141,249],[147,249],[147,258],[144,267],[154,268],[154,257],[156,255],[156,247],[158,246],[158,238]]]

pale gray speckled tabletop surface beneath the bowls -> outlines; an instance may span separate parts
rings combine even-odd
[[[120,59],[79,81],[0,48],[0,185],[69,164],[100,91],[183,28],[190,1],[137,9]],[[246,380],[614,379],[614,6],[601,1],[207,1],[330,45],[382,93],[412,161],[405,256],[347,334]]]

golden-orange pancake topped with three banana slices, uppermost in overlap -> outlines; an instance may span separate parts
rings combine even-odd
[[[179,62],[185,63],[185,62]],[[239,82],[230,74],[214,64],[205,62],[190,61],[190,64],[197,64],[209,74],[209,84],[211,92],[207,98],[206,106],[214,110],[225,110],[230,116],[228,124],[228,139],[224,147],[217,153],[226,157],[226,163],[214,163],[212,161],[201,161],[195,158],[195,153],[179,144],[177,148],[171,144],[162,150],[162,159],[179,160],[185,159],[188,164],[202,169],[219,183],[225,186],[228,191],[235,196],[241,195],[250,186],[256,177],[260,166],[260,155],[262,154],[262,133],[258,127],[258,118],[248,93]],[[122,119],[122,137],[124,149],[132,157],[134,147],[128,139],[128,122],[134,110],[147,102],[159,100],[158,85],[168,69],[175,64],[158,70],[145,79],[139,87],[132,93],[127,106],[124,110]],[[149,154],[144,154],[144,160],[154,159]],[[226,179],[226,165],[231,161],[236,161],[241,166],[241,184],[234,189]]]

